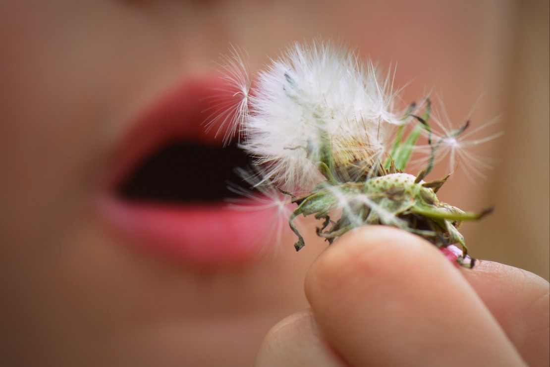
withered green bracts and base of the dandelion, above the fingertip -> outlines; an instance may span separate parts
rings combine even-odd
[[[355,227],[368,224],[390,225],[416,233],[439,248],[460,244],[463,256],[456,262],[465,267],[473,266],[473,261],[465,261],[467,248],[458,228],[463,221],[479,219],[489,213],[490,209],[468,213],[439,201],[436,193],[449,176],[423,181],[432,169],[434,155],[437,154],[438,142],[432,142],[430,138],[428,140],[432,152],[427,168],[416,176],[402,171],[421,131],[430,132],[427,124],[429,113],[428,101],[424,115],[414,116],[420,123],[406,137],[403,137],[400,127],[393,144],[393,155],[390,155],[384,165],[373,163],[371,158],[365,162],[357,160],[345,166],[335,165],[331,144],[323,144],[323,161],[317,162],[317,167],[326,177],[326,181],[303,196],[293,197],[293,203],[298,204],[298,207],[290,215],[290,227],[298,236],[298,242],[294,244],[296,251],[305,243],[293,220],[298,215],[315,215],[316,219],[323,220],[322,226],[317,228],[317,234],[326,238],[329,243]],[[453,134],[461,134],[467,126],[466,124],[453,131]],[[290,195],[288,192],[284,193]],[[341,210],[341,213],[335,213],[338,219],[332,221],[331,215],[335,209]]]

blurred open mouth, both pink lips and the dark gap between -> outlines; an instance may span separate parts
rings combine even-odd
[[[272,213],[225,201],[235,196],[228,182],[250,186],[235,173],[250,158],[236,144],[222,147],[223,134],[205,132],[213,86],[187,81],[153,101],[113,149],[100,212],[124,243],[206,266],[250,260],[264,248],[258,240]]]

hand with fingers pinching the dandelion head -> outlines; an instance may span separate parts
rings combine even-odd
[[[273,327],[257,366],[548,366],[548,282],[488,261],[458,269],[404,231],[343,236],[305,292],[311,309]]]

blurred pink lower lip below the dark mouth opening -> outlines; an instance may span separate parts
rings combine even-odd
[[[109,224],[146,252],[178,262],[219,266],[249,262],[266,248],[273,214],[266,210],[236,210],[221,204],[178,207],[132,203],[106,196],[100,209]]]

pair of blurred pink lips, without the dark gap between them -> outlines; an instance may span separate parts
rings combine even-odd
[[[273,218],[269,212],[231,210],[224,203],[131,202],[112,192],[141,158],[162,144],[182,137],[221,143],[221,138],[213,132],[206,134],[201,125],[216,84],[217,79],[188,81],[164,94],[136,119],[120,142],[108,179],[110,190],[102,194],[99,207],[109,227],[126,238],[124,242],[199,266],[246,262],[261,252],[259,239]]]

